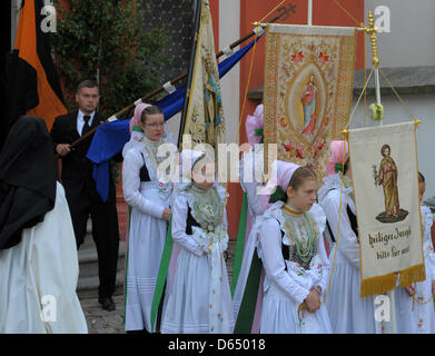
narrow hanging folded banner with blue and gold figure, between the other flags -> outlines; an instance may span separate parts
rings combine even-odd
[[[214,147],[225,141],[224,108],[208,0],[202,0],[201,4],[198,46],[185,134],[191,135],[194,142],[206,142]]]

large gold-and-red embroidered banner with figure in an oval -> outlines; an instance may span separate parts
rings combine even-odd
[[[355,28],[267,27],[265,144],[277,144],[279,160],[312,164],[319,181],[349,118],[355,51]]]

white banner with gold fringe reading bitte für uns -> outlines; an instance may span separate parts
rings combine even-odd
[[[414,122],[350,130],[360,296],[425,279]]]

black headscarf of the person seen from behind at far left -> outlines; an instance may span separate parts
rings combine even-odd
[[[0,249],[21,241],[23,228],[55,207],[56,164],[46,122],[21,116],[0,152]]]

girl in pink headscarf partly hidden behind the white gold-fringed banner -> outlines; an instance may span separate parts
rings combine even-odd
[[[330,158],[327,165],[327,177],[319,189],[318,200],[327,218],[327,231],[333,244],[329,264],[335,265],[333,281],[326,306],[333,330],[336,334],[373,334],[376,333],[374,317],[374,297],[360,297],[359,243],[355,216],[355,201],[352,188],[348,147],[345,141],[330,142]],[[345,165],[343,166],[343,150]],[[342,211],[340,189],[342,171],[344,171]],[[339,236],[337,236],[338,220]],[[337,251],[335,251],[337,249]]]

